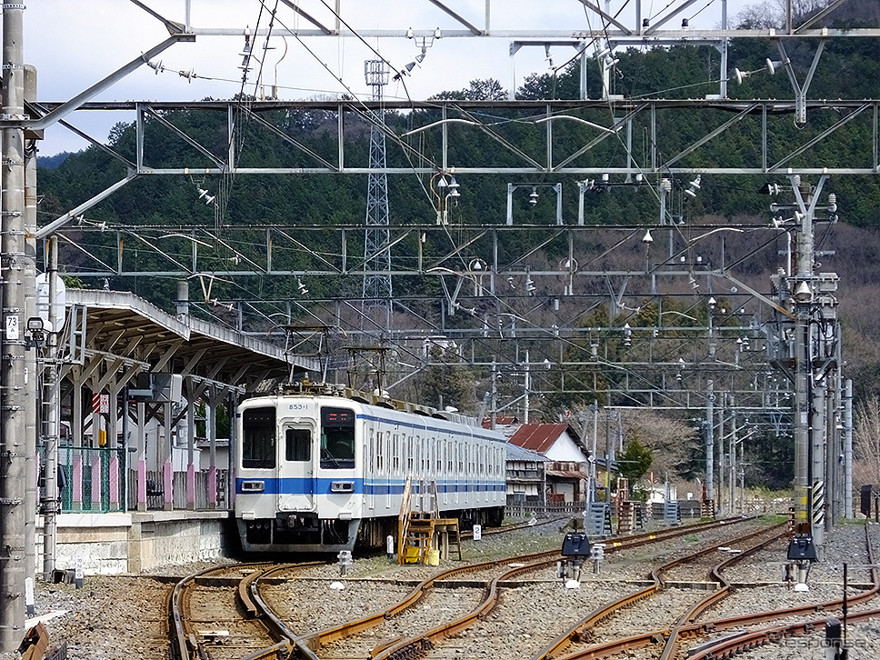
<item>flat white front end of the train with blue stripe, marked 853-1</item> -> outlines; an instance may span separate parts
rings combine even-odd
[[[259,397],[239,407],[236,421],[235,519],[245,552],[353,549],[364,481],[357,404]]]

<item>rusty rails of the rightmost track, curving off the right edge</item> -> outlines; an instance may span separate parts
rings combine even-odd
[[[861,594],[846,597],[846,603],[858,604],[870,600],[878,591],[880,591],[880,573],[876,568],[874,560],[874,549],[871,545],[868,528],[865,525],[865,542],[867,545],[868,562],[872,565],[871,580],[872,587],[866,589]],[[678,631],[682,638],[696,637],[699,635],[711,635],[717,631],[729,630],[741,625],[755,625],[765,621],[778,619],[785,616],[805,615],[811,612],[834,611],[844,605],[844,599],[827,601],[825,603],[817,603],[813,605],[800,605],[795,607],[787,607],[783,610],[768,610],[766,612],[758,612],[752,615],[732,616],[725,619],[715,619],[706,621],[701,624],[684,625]],[[865,610],[852,615],[847,615],[850,622],[865,621],[870,618],[880,616],[880,609]],[[825,619],[815,619],[800,624],[779,625],[764,630],[758,630],[735,637],[727,637],[718,640],[715,644],[702,645],[697,653],[688,655],[688,660],[714,660],[716,658],[730,657],[736,653],[750,650],[756,646],[766,644],[781,639],[785,635],[805,635],[818,627],[825,625]],[[670,628],[661,628],[651,630],[639,635],[632,635],[622,639],[608,642],[603,645],[591,646],[568,655],[560,655],[555,660],[594,660],[597,658],[610,657],[621,653],[622,651],[635,650],[644,648],[645,646],[663,644],[665,639],[672,634]],[[534,660],[534,659],[533,659]]]

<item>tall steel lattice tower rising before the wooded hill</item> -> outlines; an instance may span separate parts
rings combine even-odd
[[[388,68],[383,60],[366,60],[366,84],[373,87],[373,100],[382,100],[388,84]],[[375,110],[370,128],[370,178],[366,197],[364,235],[364,285],[361,327],[381,335],[391,330],[391,251],[388,232],[388,176],[385,174],[385,110]],[[375,325],[368,326],[372,318]]]

